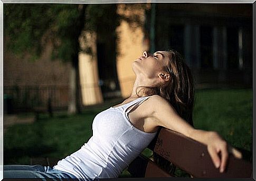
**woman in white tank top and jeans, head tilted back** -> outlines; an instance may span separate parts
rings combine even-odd
[[[144,52],[132,63],[132,69],[136,81],[130,97],[94,118],[93,136],[81,149],[53,168],[5,166],[4,177],[116,178],[151,142],[160,126],[207,145],[221,173],[228,152],[242,157],[217,133],[193,128],[192,76],[176,51]]]

